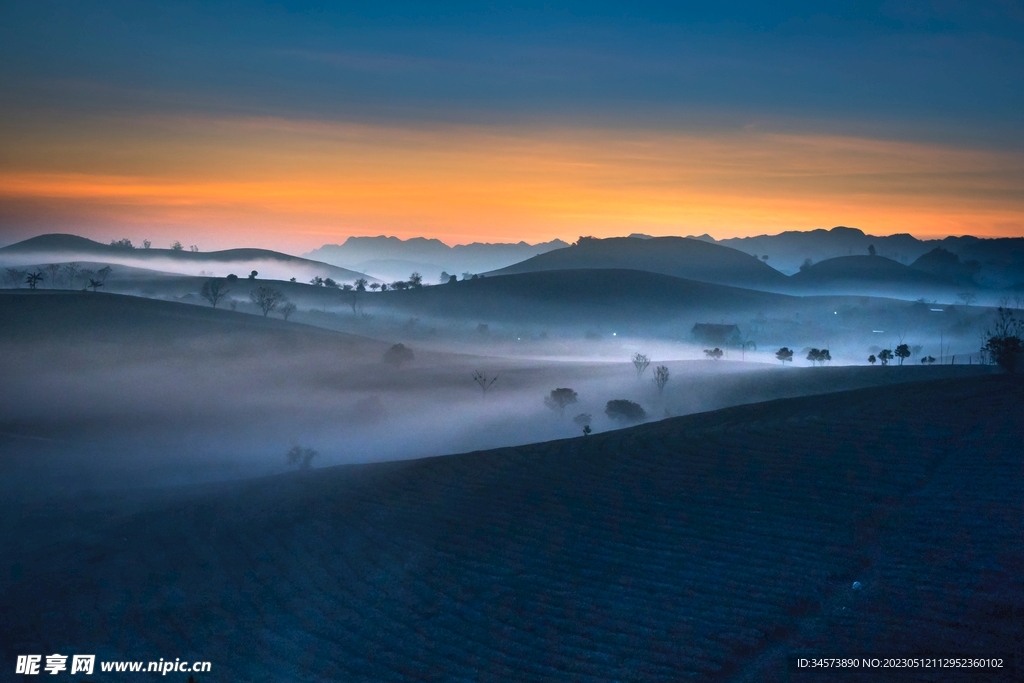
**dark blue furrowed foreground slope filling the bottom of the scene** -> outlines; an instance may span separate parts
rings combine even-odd
[[[0,657],[204,659],[230,681],[851,680],[790,673],[792,652],[1020,666],[1022,439],[1022,386],[979,377],[39,501],[4,511]]]

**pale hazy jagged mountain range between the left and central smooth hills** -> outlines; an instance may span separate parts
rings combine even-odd
[[[436,283],[442,271],[457,274],[480,273],[524,261],[538,254],[563,249],[561,240],[530,245],[485,244],[449,247],[440,240],[390,237],[348,238],[341,245],[324,245],[305,254],[306,257],[344,268],[368,272],[385,281],[404,280],[414,270],[425,282]]]

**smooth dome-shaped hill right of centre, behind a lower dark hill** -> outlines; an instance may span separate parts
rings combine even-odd
[[[749,254],[688,238],[581,239],[568,249],[540,254],[493,275],[542,270],[646,270],[702,283],[781,291],[786,276]]]

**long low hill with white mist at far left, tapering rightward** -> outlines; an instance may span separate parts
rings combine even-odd
[[[127,245],[104,245],[75,234],[41,234],[0,249],[0,263],[36,265],[89,261],[152,268],[178,274],[240,276],[258,270],[261,278],[300,282],[319,276],[352,282],[364,273],[267,249],[227,249],[194,252],[174,249],[137,249]],[[374,280],[369,278],[369,280]]]

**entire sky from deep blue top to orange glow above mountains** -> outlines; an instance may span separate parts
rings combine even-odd
[[[1024,236],[1016,2],[0,3],[0,244]]]

